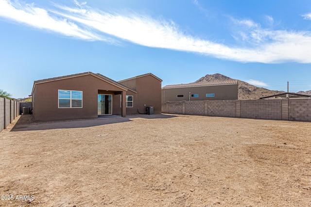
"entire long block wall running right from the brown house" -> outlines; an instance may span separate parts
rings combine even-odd
[[[310,122],[311,98],[167,101],[162,113]]]

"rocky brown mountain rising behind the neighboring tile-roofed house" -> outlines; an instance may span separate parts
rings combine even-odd
[[[216,81],[216,80],[234,80],[229,77],[226,77],[222,74],[216,73],[213,75],[206,75],[195,82],[208,82],[208,81]],[[254,100],[259,99],[264,96],[272,96],[276,94],[285,93],[284,91],[272,91],[266,88],[257,87],[251,85],[242,80],[238,80],[238,99],[240,100]],[[311,91],[310,91],[311,93]]]

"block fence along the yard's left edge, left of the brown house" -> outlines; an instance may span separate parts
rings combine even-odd
[[[0,132],[18,116],[19,102],[0,97]]]

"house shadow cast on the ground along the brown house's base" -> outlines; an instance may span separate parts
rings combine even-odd
[[[17,123],[11,129],[11,131],[32,131],[32,130],[46,130],[46,129],[58,129],[58,128],[84,128],[104,126],[108,124],[116,124],[123,122],[131,122],[135,118],[144,119],[166,119],[175,117],[174,115],[167,114],[135,114],[128,115],[126,117],[119,116],[106,116],[94,119],[78,119],[78,120],[61,120],[61,121],[35,121],[32,114],[21,115]]]

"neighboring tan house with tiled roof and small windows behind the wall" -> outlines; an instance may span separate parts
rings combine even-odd
[[[162,103],[190,100],[236,100],[238,99],[238,80],[166,85],[161,91]]]

